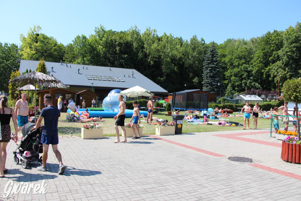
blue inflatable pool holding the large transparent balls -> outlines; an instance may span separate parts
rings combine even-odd
[[[79,109],[79,113],[81,113],[82,111],[85,111],[86,109]],[[89,110],[89,117],[98,117],[98,116],[102,116],[103,118],[113,118],[114,116],[116,116],[118,114],[118,112],[106,112],[104,110]],[[67,113],[70,114],[71,110],[68,109]],[[131,118],[133,116],[133,110],[127,110],[125,111],[126,114],[126,118]],[[140,110],[140,115],[143,114],[145,117],[147,117],[148,112],[147,111],[141,111]]]

